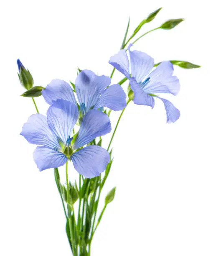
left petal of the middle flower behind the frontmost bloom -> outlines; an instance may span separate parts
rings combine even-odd
[[[52,80],[51,83],[42,90],[42,95],[49,105],[52,104],[53,100],[57,99],[76,103],[71,86],[61,79]]]

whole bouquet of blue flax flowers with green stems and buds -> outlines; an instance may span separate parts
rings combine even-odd
[[[78,68],[74,83],[55,79],[46,87],[34,86],[29,70],[17,60],[18,77],[26,89],[21,96],[31,97],[37,112],[24,123],[20,134],[29,143],[37,145],[33,158],[39,171],[54,169],[66,218],[68,242],[74,256],[91,255],[94,233],[107,205],[114,199],[115,187],[106,195],[104,207],[98,216],[101,191],[114,157],[112,141],[127,105],[133,102],[154,108],[155,100],[161,100],[165,106],[167,123],[174,123],[180,118],[180,111],[159,94],[176,96],[180,90],[179,79],[173,75],[173,65],[185,69],[200,67],[179,60],[155,63],[148,54],[132,50],[134,44],[146,34],[157,29],[170,30],[183,21],[167,20],[161,26],[135,38],[142,26],[151,22],[160,10],[161,8],[142,20],[127,39],[130,20],[128,21],[121,49],[109,58],[109,64],[113,66],[110,77]],[[111,85],[116,70],[124,78]],[[129,84],[127,92],[122,88],[125,82]],[[34,98],[40,96],[49,105],[46,116],[39,113],[35,103]],[[103,148],[102,137],[112,131],[112,111],[121,113],[108,147]],[[69,161],[79,173],[79,180],[74,183],[69,179]],[[60,179],[58,167],[61,166],[65,166],[66,181]]]

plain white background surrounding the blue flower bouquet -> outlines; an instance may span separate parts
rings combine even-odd
[[[155,31],[135,44],[155,61],[180,59],[201,69],[175,67],[181,91],[167,97],[181,111],[166,124],[162,102],[154,109],[129,104],[113,142],[114,163],[101,197],[115,185],[92,243],[92,256],[212,256],[212,8],[191,0],[4,1],[0,6],[0,255],[71,255],[53,170],[39,172],[34,145],[19,135],[35,113],[19,84],[20,58],[35,81],[74,81],[76,67],[110,75],[109,57],[130,32],[163,6],[138,35],[170,18],[186,18],[171,31]],[[113,83],[122,75],[115,73]],[[126,89],[127,85],[124,85]],[[46,113],[43,98],[35,99]],[[114,127],[119,113],[113,113]],[[105,146],[109,136],[105,136]],[[76,171],[69,166],[70,176]],[[64,168],[60,169],[63,179]]]

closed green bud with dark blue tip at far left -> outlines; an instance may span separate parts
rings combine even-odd
[[[30,74],[28,69],[25,69],[23,64],[21,63],[20,59],[17,59],[17,65],[18,65],[18,77],[20,80],[20,83],[25,87],[25,89],[29,90],[33,87],[33,77]]]

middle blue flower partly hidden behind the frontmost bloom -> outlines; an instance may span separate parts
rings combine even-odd
[[[106,76],[97,76],[90,70],[81,71],[75,81],[75,90],[84,115],[90,109],[101,107],[112,110],[122,110],[126,107],[126,94],[119,84],[110,85],[111,79]],[[42,90],[42,95],[48,104],[53,100],[62,99],[76,103],[74,92],[67,82],[55,79]]]

